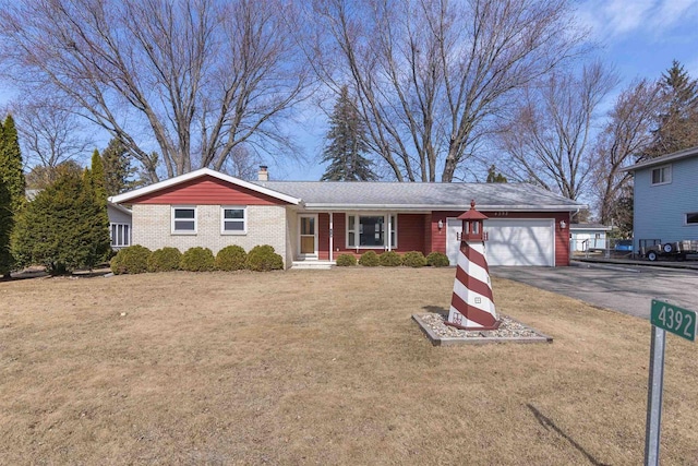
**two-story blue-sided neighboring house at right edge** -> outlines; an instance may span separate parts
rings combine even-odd
[[[626,168],[635,177],[633,247],[698,240],[698,147]]]

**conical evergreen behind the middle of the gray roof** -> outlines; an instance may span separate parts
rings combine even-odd
[[[323,151],[323,163],[329,166],[321,181],[370,181],[377,176],[372,171],[373,163],[364,154],[369,152],[365,138],[365,126],[356,103],[349,97],[347,86],[335,104],[329,118],[329,132]]]

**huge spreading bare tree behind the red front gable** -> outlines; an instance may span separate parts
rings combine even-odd
[[[0,58],[72,99],[155,181],[154,148],[172,177],[220,169],[238,144],[290,147],[277,119],[309,83],[293,17],[281,0],[0,0]]]

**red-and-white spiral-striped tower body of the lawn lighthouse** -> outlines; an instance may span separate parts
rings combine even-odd
[[[460,243],[448,325],[464,330],[495,330],[500,326],[484,243]]]

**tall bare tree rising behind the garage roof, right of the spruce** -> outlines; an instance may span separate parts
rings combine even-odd
[[[510,93],[579,51],[565,0],[322,0],[313,61],[349,83],[397,180],[452,181]]]

